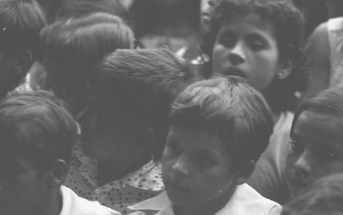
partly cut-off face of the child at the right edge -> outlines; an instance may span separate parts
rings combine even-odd
[[[321,177],[343,173],[341,121],[315,112],[302,112],[291,139],[286,182],[292,196]]]

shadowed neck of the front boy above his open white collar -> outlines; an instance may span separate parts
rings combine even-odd
[[[212,199],[206,203],[200,203],[198,205],[189,205],[187,207],[180,207],[174,205],[173,210],[175,215],[213,215],[220,211],[225,205],[230,201],[230,198],[233,196],[237,186],[234,186],[232,189],[228,190],[226,193],[222,193],[215,199]]]

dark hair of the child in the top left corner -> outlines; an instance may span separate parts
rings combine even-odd
[[[1,53],[15,57],[29,50],[33,63],[38,58],[39,32],[44,26],[45,16],[36,1],[0,1]]]

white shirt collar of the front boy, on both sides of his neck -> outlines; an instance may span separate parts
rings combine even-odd
[[[166,192],[128,208],[136,211],[130,215],[174,215]],[[279,215],[281,210],[281,205],[265,199],[248,184],[242,184],[237,186],[225,207],[215,215]]]

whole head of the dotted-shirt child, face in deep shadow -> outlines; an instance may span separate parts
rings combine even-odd
[[[170,103],[198,76],[174,53],[117,50],[90,76],[91,102],[80,120],[86,153],[123,160],[132,151],[161,157]]]

